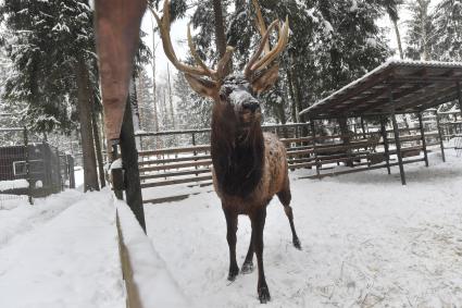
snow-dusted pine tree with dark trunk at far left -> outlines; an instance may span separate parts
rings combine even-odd
[[[85,189],[98,189],[90,107],[98,70],[88,0],[7,0],[0,16],[15,35],[7,46],[15,74],[3,96],[11,103],[25,101],[25,120],[39,132],[70,133],[78,114]]]

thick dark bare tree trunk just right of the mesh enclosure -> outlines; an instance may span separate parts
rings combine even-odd
[[[90,89],[87,65],[83,59],[76,64],[78,120],[80,123],[82,157],[84,160],[84,192],[99,190],[97,162],[91,126]]]

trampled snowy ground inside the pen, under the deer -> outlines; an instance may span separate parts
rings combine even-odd
[[[269,307],[461,307],[462,159],[317,180],[291,174],[303,250],[291,246],[283,207],[269,206],[264,263]],[[147,205],[148,235],[197,307],[258,307],[257,270],[229,283],[225,219],[214,193]],[[239,219],[238,262],[250,223]]]

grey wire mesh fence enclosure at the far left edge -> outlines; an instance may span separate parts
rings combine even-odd
[[[75,187],[74,159],[26,128],[0,128],[0,209]]]

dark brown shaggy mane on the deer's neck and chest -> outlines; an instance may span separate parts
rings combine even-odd
[[[264,139],[259,123],[241,135],[230,106],[215,104],[211,153],[217,187],[229,196],[248,197],[261,181]]]

